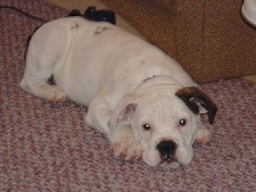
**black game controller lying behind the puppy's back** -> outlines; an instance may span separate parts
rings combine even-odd
[[[94,21],[106,21],[116,25],[116,14],[111,10],[96,10],[96,7],[90,6],[86,9],[86,12],[82,15],[78,9],[73,9],[68,16],[80,16],[88,20]]]

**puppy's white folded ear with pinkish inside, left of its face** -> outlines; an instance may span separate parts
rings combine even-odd
[[[136,96],[128,94],[124,96],[121,101],[119,101],[116,110],[113,112],[112,117],[110,118],[110,126],[114,126],[116,123],[119,125],[129,124],[135,109],[137,107]]]

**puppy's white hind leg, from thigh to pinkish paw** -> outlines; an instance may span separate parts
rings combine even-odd
[[[21,88],[53,102],[63,102],[67,94],[57,85],[49,85],[56,62],[64,54],[67,34],[63,28],[42,26],[34,34],[26,57],[26,69]]]

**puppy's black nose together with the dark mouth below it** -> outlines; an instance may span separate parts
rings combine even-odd
[[[162,162],[167,161],[172,163],[173,161],[177,161],[175,156],[176,148],[176,143],[171,140],[159,142],[157,150],[159,151]]]

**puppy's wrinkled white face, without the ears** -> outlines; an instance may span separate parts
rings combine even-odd
[[[158,95],[140,99],[131,125],[148,165],[192,161],[196,115],[178,97]]]

